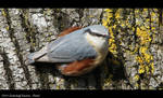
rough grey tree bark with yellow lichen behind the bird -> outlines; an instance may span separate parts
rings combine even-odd
[[[106,60],[92,72],[68,78],[54,65],[25,65],[28,53],[65,28],[95,24],[108,27],[112,38]],[[163,88],[162,10],[0,10],[0,89],[138,88]]]

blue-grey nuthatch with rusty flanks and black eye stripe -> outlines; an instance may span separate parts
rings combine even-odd
[[[101,64],[108,55],[109,31],[102,25],[72,27],[38,52],[26,62],[53,62],[64,75],[77,76]]]

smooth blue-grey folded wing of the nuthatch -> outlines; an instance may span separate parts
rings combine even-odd
[[[48,45],[48,57],[52,62],[71,62],[96,56],[97,52],[82,33],[72,32]]]

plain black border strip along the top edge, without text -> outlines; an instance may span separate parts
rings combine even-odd
[[[0,8],[163,8],[163,0],[0,0]]]

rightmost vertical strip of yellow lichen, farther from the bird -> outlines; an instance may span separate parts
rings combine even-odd
[[[148,9],[143,9],[142,12],[149,14],[148,11],[149,11]],[[139,39],[139,44],[140,44],[139,45],[140,55],[136,57],[136,60],[139,62],[138,72],[140,74],[145,73],[145,72],[147,74],[153,73],[153,71],[154,71],[153,56],[149,53],[149,43],[152,41],[151,32],[153,32],[155,30],[155,27],[154,26],[150,27],[149,23],[158,20],[158,18],[155,18],[158,15],[153,11],[150,11],[150,15],[151,15],[151,18],[146,17],[147,19],[145,19],[145,23],[140,23],[140,22],[136,23],[137,25],[139,25],[139,27],[137,27],[136,34]],[[143,24],[143,25],[141,25],[141,24]]]

